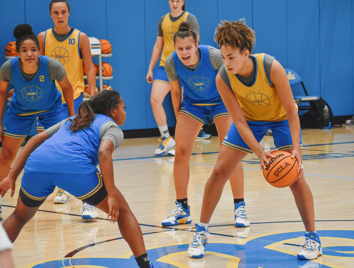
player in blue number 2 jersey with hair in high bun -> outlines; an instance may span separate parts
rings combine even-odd
[[[17,39],[18,57],[9,59],[0,69],[0,118],[7,87],[10,83],[14,87],[4,128],[0,126],[0,181],[10,171],[18,148],[37,117],[47,129],[62,121],[66,113],[74,115],[73,87],[63,65],[50,57],[39,56],[39,42],[29,24],[17,25],[13,36]],[[63,89],[68,104],[66,108],[61,102],[62,94],[57,90],[55,80]]]

